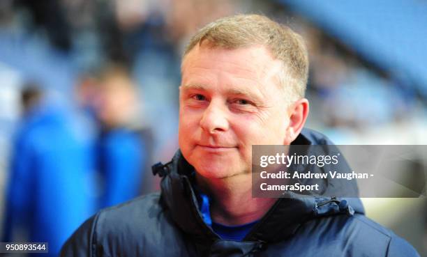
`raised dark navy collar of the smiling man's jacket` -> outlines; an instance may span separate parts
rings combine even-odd
[[[331,141],[313,130],[303,130],[294,144],[332,145]],[[174,222],[195,240],[218,240],[218,235],[204,223],[197,204],[191,174],[193,166],[178,150],[171,162],[163,166],[165,171],[161,181],[161,199]],[[357,185],[352,187],[357,190]],[[287,198],[279,198],[264,217],[246,235],[245,241],[276,242],[292,236],[297,228],[314,217],[364,213],[359,198],[331,198],[323,196],[298,196],[290,193]]]

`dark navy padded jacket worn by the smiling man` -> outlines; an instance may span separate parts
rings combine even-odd
[[[310,130],[295,143],[330,144]],[[160,194],[101,210],[70,237],[61,256],[418,256],[368,219],[359,198],[280,198],[244,240],[224,240],[204,222],[194,168],[181,153],[155,170],[163,176]]]

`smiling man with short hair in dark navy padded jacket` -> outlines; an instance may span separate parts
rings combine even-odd
[[[308,58],[296,33],[226,17],[190,40],[181,71],[181,152],[153,168],[162,192],[98,212],[62,256],[417,256],[358,198],[252,198],[251,146],[330,143],[302,130]]]

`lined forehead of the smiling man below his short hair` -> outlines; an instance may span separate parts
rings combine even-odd
[[[272,58],[264,46],[224,49],[196,45],[183,58],[183,85],[189,80],[212,80],[218,77],[241,83],[266,84],[275,79],[282,63]],[[194,81],[193,81],[194,82]]]

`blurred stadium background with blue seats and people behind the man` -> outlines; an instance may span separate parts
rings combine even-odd
[[[337,144],[427,144],[427,1],[2,0],[0,241],[55,256],[96,210],[158,190],[149,167],[178,148],[183,47],[236,13],[306,39],[307,127]],[[363,201],[427,256],[425,197]]]

